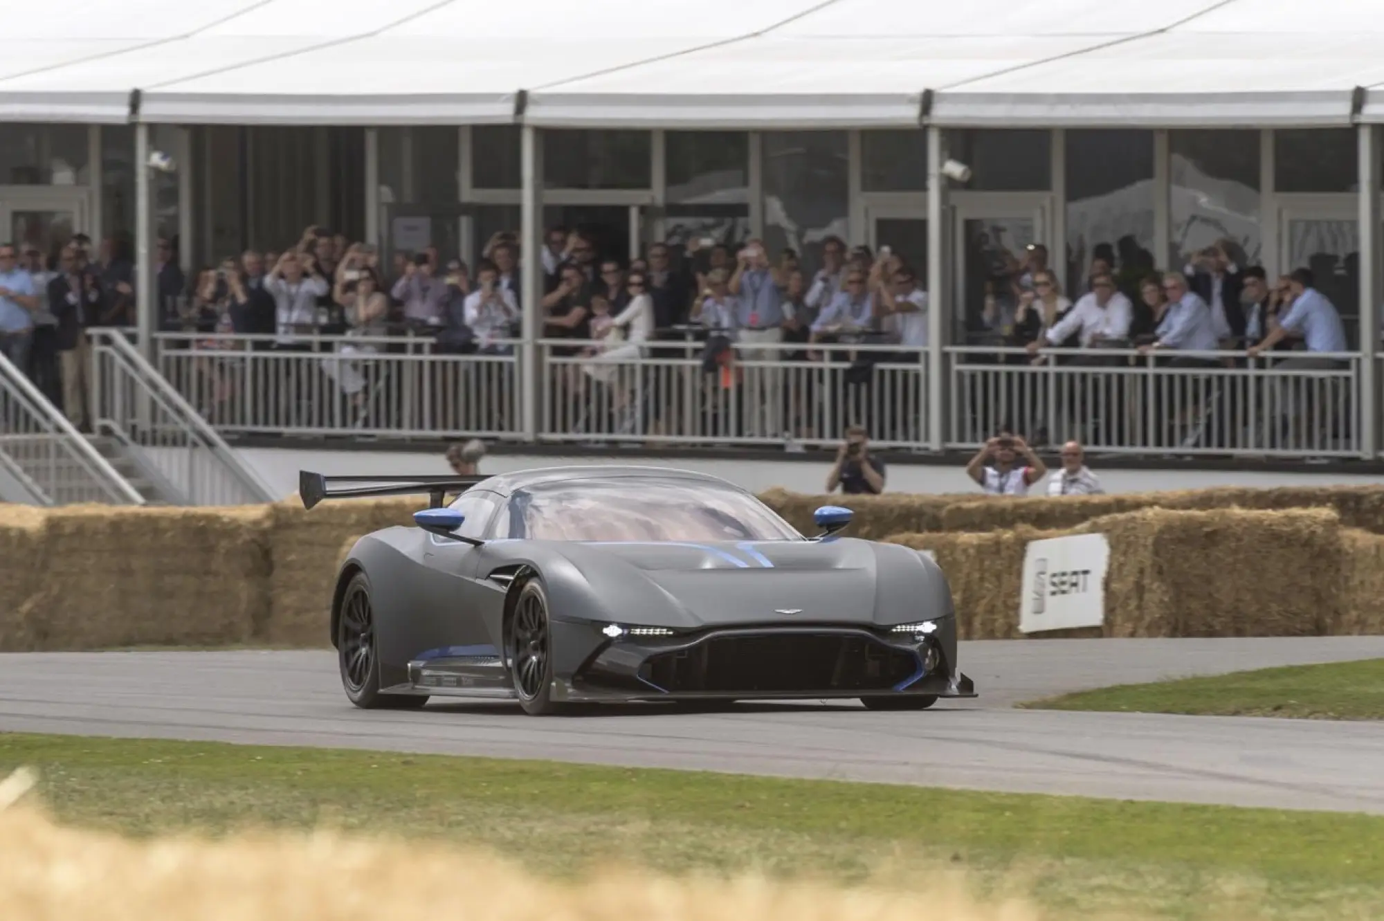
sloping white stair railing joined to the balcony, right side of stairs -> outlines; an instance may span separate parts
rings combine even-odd
[[[93,329],[93,427],[113,436],[180,505],[244,505],[280,496],[130,344]]]

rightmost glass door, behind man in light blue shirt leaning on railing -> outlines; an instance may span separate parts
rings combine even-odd
[[[1279,271],[1312,270],[1316,289],[1336,304],[1345,324],[1345,339],[1356,348],[1360,337],[1359,212],[1355,196],[1327,199],[1279,209]]]

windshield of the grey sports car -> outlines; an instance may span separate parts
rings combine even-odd
[[[567,480],[516,491],[509,537],[533,541],[800,541],[754,496],[700,480]]]

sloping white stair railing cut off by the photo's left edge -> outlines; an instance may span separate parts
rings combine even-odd
[[[0,354],[0,472],[39,505],[144,505],[140,492]]]

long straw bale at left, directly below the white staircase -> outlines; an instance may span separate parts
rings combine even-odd
[[[268,509],[62,506],[24,613],[30,649],[249,640],[268,607]]]

